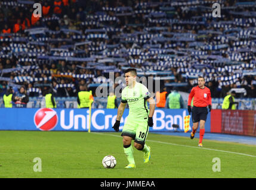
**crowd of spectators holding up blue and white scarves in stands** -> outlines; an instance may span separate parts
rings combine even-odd
[[[95,95],[98,77],[135,67],[169,90],[189,93],[202,75],[212,97],[256,97],[255,2],[218,1],[220,18],[206,0],[46,0],[42,15],[33,3],[0,2],[1,95],[72,97],[81,84]]]

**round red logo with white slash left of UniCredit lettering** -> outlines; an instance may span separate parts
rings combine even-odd
[[[57,113],[50,108],[39,109],[34,116],[36,128],[42,131],[50,131],[58,122]]]

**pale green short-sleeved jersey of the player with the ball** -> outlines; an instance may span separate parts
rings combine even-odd
[[[147,108],[147,99],[149,99],[150,93],[141,83],[135,82],[133,88],[128,86],[122,90],[122,103],[128,103],[129,105],[129,119],[144,119],[149,115]]]

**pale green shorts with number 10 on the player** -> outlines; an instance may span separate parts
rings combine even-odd
[[[131,137],[135,143],[144,144],[149,133],[146,119],[127,119],[121,136]]]

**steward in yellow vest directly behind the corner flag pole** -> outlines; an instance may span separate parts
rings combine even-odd
[[[78,93],[78,108],[89,108],[90,104],[93,102],[92,91],[87,91],[87,87],[85,85],[79,86]]]

